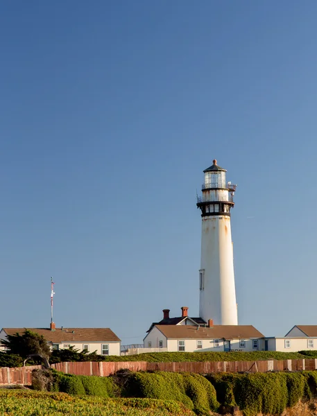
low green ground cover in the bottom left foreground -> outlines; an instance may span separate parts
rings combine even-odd
[[[0,390],[0,415],[6,416],[193,416],[171,400],[71,397],[65,393]]]

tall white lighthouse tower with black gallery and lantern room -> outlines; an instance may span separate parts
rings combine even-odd
[[[201,210],[201,260],[199,270],[200,318],[218,325],[237,325],[238,313],[234,287],[233,248],[230,209],[234,206],[236,185],[225,182],[226,170],[214,159],[205,169]]]

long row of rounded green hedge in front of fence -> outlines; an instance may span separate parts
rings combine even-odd
[[[41,371],[47,372],[33,371],[33,374],[37,374],[37,380]],[[317,397],[317,371],[217,373],[202,376],[187,372],[121,370],[114,376],[97,377],[51,370],[51,374],[54,388],[70,395],[101,398],[121,395],[127,399],[133,398],[131,403],[137,399],[178,401],[197,415],[210,415],[212,411],[222,411],[222,407],[232,406],[239,406],[244,416],[259,413],[280,415],[286,407],[293,407],[300,400]]]

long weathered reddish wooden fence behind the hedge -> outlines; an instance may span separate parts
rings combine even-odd
[[[118,370],[131,371],[167,371],[194,372],[209,374],[213,372],[268,372],[268,371],[302,371],[317,370],[317,358],[299,360],[268,360],[268,361],[201,361],[182,363],[147,363],[146,361],[118,362],[85,362],[52,364],[55,370],[68,374],[83,376],[109,376]],[[0,385],[24,384],[31,385],[31,373],[40,365],[18,368],[0,368]]]

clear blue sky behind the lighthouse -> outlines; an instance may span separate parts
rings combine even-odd
[[[1,327],[139,343],[198,315],[196,189],[216,158],[239,323],[316,321],[315,0],[0,5]]]

